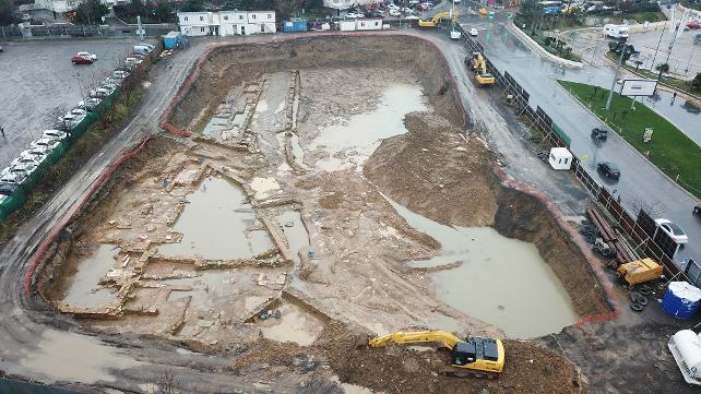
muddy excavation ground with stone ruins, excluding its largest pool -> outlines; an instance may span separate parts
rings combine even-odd
[[[443,302],[430,273],[411,270],[440,243],[385,196],[443,225],[494,226],[533,242],[570,292],[575,284],[557,262],[587,264],[539,201],[500,184],[485,144],[460,133],[433,50],[411,37],[214,50],[176,111],[195,135],[150,142],[114,177],[45,266],[48,302],[90,330],[225,354],[236,375],[309,392],[340,391],[338,382],[585,392],[573,365],[534,343],[506,342],[497,381],[437,374],[443,351],[357,346],[399,330],[503,336]],[[397,92],[403,99],[389,99]],[[361,129],[365,116],[383,127]],[[99,276],[115,300],[72,305],[71,278],[104,244],[119,246],[117,255],[90,282]],[[577,286],[592,288],[589,305],[572,296],[575,311],[603,311],[593,275],[577,270]]]

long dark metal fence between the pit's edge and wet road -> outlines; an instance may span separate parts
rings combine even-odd
[[[501,72],[494,67],[487,56],[484,53],[484,47],[472,39],[467,32],[462,26],[458,25],[456,28],[462,33],[461,38],[463,45],[472,52],[482,52],[485,62],[487,63],[489,73],[495,76],[497,84],[503,88],[507,99],[515,107],[516,114],[525,117],[531,127],[535,127],[543,133],[544,140],[553,146],[567,146],[570,147],[570,136],[558,127],[553,119],[540,107],[534,110],[530,104],[528,98],[531,95],[526,92],[513,76],[508,72]],[[651,236],[637,223],[635,217],[628,213],[620,204],[619,199],[611,195],[611,193],[602,187],[584,168],[582,160],[574,154],[572,162],[572,170],[577,179],[584,186],[584,188],[592,194],[595,201],[602,204],[608,211],[609,216],[618,224],[618,228],[627,235],[634,244],[634,251],[639,254],[652,258],[660,262],[665,267],[665,274],[670,278],[681,277],[689,283],[697,286],[701,285],[701,267],[698,263],[687,263],[687,266],[681,271],[674,262],[674,255],[669,255],[663,248],[660,247]],[[690,280],[690,278],[694,280]]]

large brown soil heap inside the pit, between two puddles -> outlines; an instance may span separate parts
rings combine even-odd
[[[489,226],[497,212],[492,159],[475,138],[430,116],[407,116],[406,134],[384,140],[364,175],[408,210],[445,225]],[[430,198],[428,198],[430,196]]]

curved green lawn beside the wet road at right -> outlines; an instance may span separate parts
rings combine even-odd
[[[614,93],[611,108],[606,110],[608,89],[575,82],[558,82],[669,178],[701,198],[701,147],[679,129],[641,103],[637,103],[635,109],[631,110],[631,99],[618,93]],[[642,141],[645,127],[654,129],[652,141],[647,143]]]

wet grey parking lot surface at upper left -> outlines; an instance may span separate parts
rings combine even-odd
[[[7,166],[48,126],[48,114],[82,97],[81,81],[105,76],[136,39],[50,40],[4,44],[0,53],[0,167]],[[88,65],[73,65],[79,51],[97,55]]]

